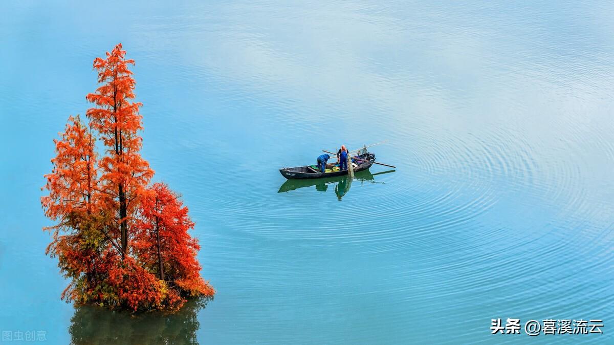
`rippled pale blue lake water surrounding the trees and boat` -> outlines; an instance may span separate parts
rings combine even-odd
[[[608,343],[612,1],[5,1],[0,328],[52,344]],[[196,222],[205,308],[60,300],[52,139],[122,42],[155,180]],[[322,149],[397,166],[284,184]],[[491,319],[603,335],[491,335]],[[523,331],[524,333],[524,331]]]

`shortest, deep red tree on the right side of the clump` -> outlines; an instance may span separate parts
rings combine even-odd
[[[179,196],[155,183],[141,199],[134,251],[150,271],[181,295],[211,296],[212,287],[200,276],[198,240],[188,234],[194,223]]]

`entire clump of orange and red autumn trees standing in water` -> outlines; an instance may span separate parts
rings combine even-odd
[[[187,207],[165,184],[153,184],[141,157],[141,103],[118,44],[94,69],[102,85],[87,95],[89,127],[70,117],[55,140],[53,169],[45,175],[49,195],[41,198],[56,225],[47,254],[70,283],[67,301],[109,308],[176,310],[187,297],[211,297],[200,276],[200,249],[188,234],[194,224]],[[105,155],[96,154],[96,138]],[[155,223],[155,222],[157,223]],[[154,222],[154,223],[152,223]]]

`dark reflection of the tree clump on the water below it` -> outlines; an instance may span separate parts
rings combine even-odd
[[[196,315],[207,303],[207,299],[190,300],[174,314],[136,316],[80,306],[71,319],[71,344],[198,344]]]

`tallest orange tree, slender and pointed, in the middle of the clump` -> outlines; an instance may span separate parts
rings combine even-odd
[[[122,258],[128,254],[128,239],[134,211],[143,188],[153,176],[149,163],[139,153],[142,138],[141,103],[134,102],[133,72],[128,69],[134,60],[125,58],[122,44],[118,44],[106,59],[96,58],[93,66],[102,85],[86,99],[95,104],[87,110],[90,126],[100,133],[108,155],[100,162],[101,186],[107,207],[116,215],[117,238]]]

